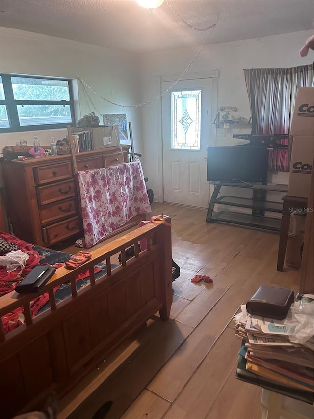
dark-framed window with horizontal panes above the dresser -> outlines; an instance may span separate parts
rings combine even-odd
[[[0,74],[0,132],[75,125],[71,80]]]

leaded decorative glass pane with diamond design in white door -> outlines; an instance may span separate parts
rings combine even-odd
[[[201,94],[200,89],[171,92],[172,149],[201,149]]]

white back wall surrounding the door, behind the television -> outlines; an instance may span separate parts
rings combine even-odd
[[[188,30],[188,29],[187,29]],[[218,69],[218,106],[236,106],[240,115],[250,117],[248,95],[244,80],[244,68],[294,67],[313,62],[313,52],[306,58],[299,55],[300,48],[311,31],[287,33],[284,35],[244,41],[228,42],[206,46],[189,72],[204,72]],[[171,51],[160,51],[141,56],[141,80],[143,101],[148,101],[160,93],[156,76],[181,74],[198,52],[199,47]],[[155,196],[161,196],[162,186],[158,185],[158,136],[161,136],[157,115],[160,100],[146,105],[142,110],[144,148],[144,173],[149,177],[149,187]],[[229,145],[232,134],[217,138],[217,144]],[[243,131],[250,133],[250,131]],[[160,140],[160,137],[159,137]],[[272,176],[270,182],[288,183],[288,173]]]

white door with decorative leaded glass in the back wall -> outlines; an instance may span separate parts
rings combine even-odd
[[[162,96],[164,202],[208,207],[207,147],[214,144],[212,80],[180,81]],[[161,82],[161,91],[173,83]]]

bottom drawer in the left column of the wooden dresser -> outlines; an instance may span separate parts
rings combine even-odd
[[[79,217],[72,217],[42,228],[43,241],[47,244],[57,243],[80,231]]]

